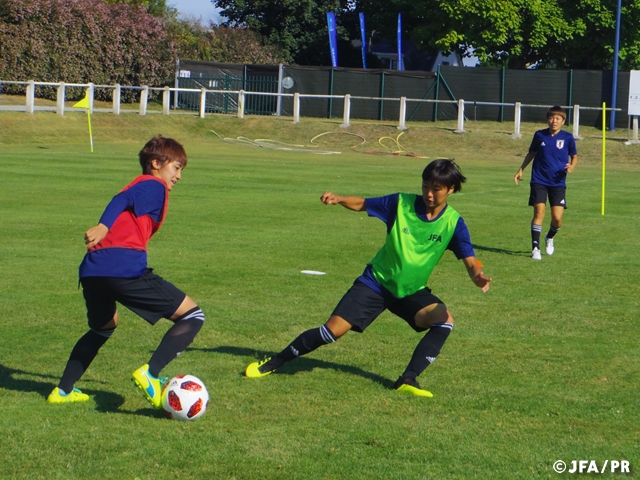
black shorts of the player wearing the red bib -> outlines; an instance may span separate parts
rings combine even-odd
[[[151,325],[171,318],[187,296],[148,268],[141,277],[86,277],[80,280],[89,327],[100,330],[116,313],[116,302]]]

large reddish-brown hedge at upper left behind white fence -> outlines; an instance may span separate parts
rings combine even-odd
[[[176,59],[163,21],[143,7],[0,0],[0,78],[161,86]]]

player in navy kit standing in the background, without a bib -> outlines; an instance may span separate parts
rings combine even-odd
[[[578,163],[576,141],[569,132],[562,130],[567,114],[562,107],[551,107],[547,111],[549,128],[538,130],[533,135],[529,153],[524,157],[522,166],[513,177],[518,185],[522,172],[533,160],[531,166],[531,190],[529,205],[533,207],[531,221],[531,258],[542,260],[540,254],[540,234],[544,220],[547,197],[551,206],[551,225],[545,237],[547,255],[555,251],[553,238],[562,227],[562,214],[567,208],[565,193],[567,173],[573,172]]]

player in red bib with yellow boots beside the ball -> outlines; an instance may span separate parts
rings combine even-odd
[[[175,140],[158,136],[147,142],[139,159],[142,175],[113,197],[98,225],[85,233],[87,254],[80,265],[80,282],[89,331],[71,351],[49,403],[89,400],[74,385],[118,326],[116,302],[152,325],[160,318],[173,322],[149,363],[132,375],[156,408],[161,408],[160,371],[191,344],[203,325],[198,305],[147,268],[147,242],[162,226],[169,192],[187,166],[187,155]]]

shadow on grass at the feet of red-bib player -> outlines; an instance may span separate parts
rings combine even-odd
[[[46,381],[20,377],[35,377]],[[43,375],[0,365],[0,388],[18,392],[35,392],[42,396],[43,400],[51,393],[58,380],[59,378],[53,375]],[[99,412],[118,411],[120,405],[124,403],[124,397],[116,393],[90,389],[84,389],[83,392],[93,397],[96,403],[96,410]]]

